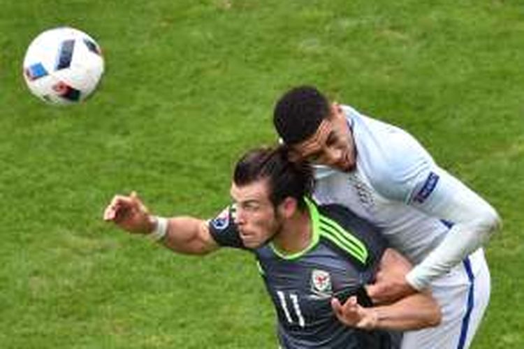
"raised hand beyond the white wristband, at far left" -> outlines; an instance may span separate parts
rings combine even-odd
[[[154,218],[134,191],[129,196],[115,195],[105,207],[103,219],[131,233],[148,234],[154,228]]]

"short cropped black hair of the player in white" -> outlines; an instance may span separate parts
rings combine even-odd
[[[277,101],[273,124],[284,143],[292,145],[310,138],[328,116],[328,99],[315,87],[300,86]]]

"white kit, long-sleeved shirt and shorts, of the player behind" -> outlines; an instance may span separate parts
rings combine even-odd
[[[409,133],[349,106],[343,110],[356,169],[317,165],[314,198],[379,226],[414,264],[407,281],[419,290],[430,285],[442,323],[405,332],[402,349],[468,348],[488,305],[490,277],[479,247],[500,226],[497,212],[439,168]]]

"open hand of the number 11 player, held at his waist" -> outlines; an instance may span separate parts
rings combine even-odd
[[[377,312],[373,308],[364,308],[358,304],[356,296],[349,297],[344,304],[333,297],[331,307],[337,319],[346,326],[367,330],[377,327]]]

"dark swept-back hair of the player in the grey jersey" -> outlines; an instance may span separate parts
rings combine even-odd
[[[307,163],[289,161],[287,147],[252,149],[235,165],[233,182],[236,186],[262,179],[268,180],[274,207],[291,197],[297,200],[300,209],[305,209],[305,198],[311,196],[313,188],[312,168]]]

